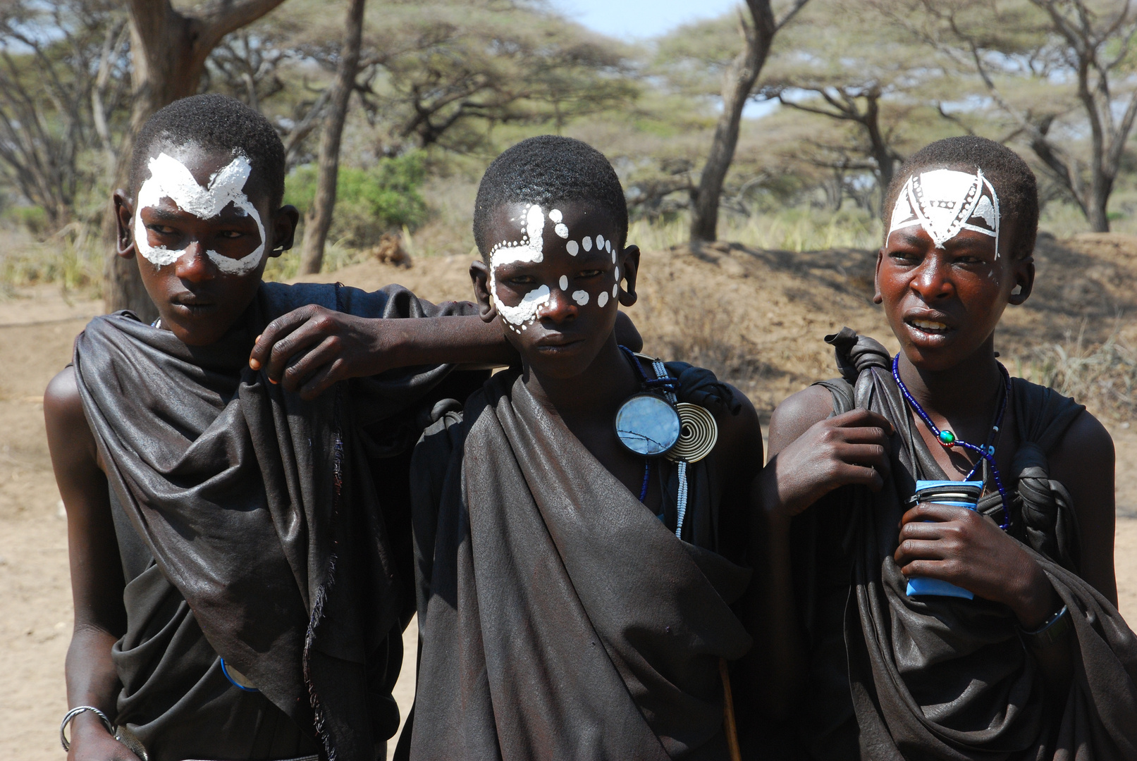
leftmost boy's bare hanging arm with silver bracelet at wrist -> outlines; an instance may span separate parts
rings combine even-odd
[[[75,603],[75,628],[66,663],[67,702],[72,708],[93,705],[114,721],[119,685],[110,649],[126,629],[123,571],[107,479],[99,469],[72,368],[48,385],[43,416],[51,465],[67,508]],[[90,711],[75,717],[69,735],[72,761],[138,761]]]

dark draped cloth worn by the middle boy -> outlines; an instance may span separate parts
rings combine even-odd
[[[705,461],[691,483],[684,537],[716,520]],[[749,570],[677,538],[518,370],[428,429],[412,494],[412,759],[725,758],[719,661],[749,649],[730,609]]]

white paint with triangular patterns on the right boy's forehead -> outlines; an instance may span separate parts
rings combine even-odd
[[[998,259],[998,195],[984,177],[954,169],[932,169],[912,175],[901,189],[893,207],[888,234],[905,227],[923,227],[937,249],[960,234],[972,229],[995,239]]]

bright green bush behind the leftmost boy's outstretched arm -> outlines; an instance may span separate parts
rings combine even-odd
[[[421,225],[426,219],[426,202],[420,192],[425,174],[422,151],[380,159],[370,169],[341,166],[331,239],[347,239],[355,246],[365,248],[389,229],[413,229]],[[315,166],[299,167],[288,176],[285,203],[306,214],[315,196]]]

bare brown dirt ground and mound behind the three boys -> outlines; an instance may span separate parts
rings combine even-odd
[[[1038,286],[1011,309],[998,349],[1014,373],[1037,346],[1119,334],[1137,345],[1137,239],[1086,235],[1039,243]],[[871,302],[873,254],[707,248],[644,257],[640,302],[629,310],[653,353],[714,368],[763,410],[811,380],[835,375],[821,337],[843,325],[887,338]],[[339,270],[348,285],[400,283],[431,300],[466,299],[467,257],[422,259],[410,268],[363,264]],[[0,758],[61,759],[64,657],[70,637],[66,520],[43,435],[43,388],[70,357],[72,342],[101,303],[57,288],[0,301]],[[1029,369],[1029,368],[1028,368]],[[1093,405],[1092,405],[1092,409]],[[1098,411],[1098,410],[1094,410]],[[1120,609],[1137,616],[1137,429],[1106,419],[1118,451],[1115,562]],[[414,652],[415,630],[407,632]],[[413,680],[404,674],[400,705]]]

